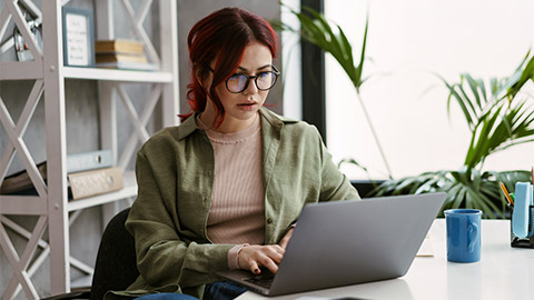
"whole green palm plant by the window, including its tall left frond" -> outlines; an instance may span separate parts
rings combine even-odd
[[[330,26],[324,14],[313,9],[303,8],[303,10],[306,13],[290,10],[300,22],[301,30],[298,32],[305,40],[330,53],[353,82],[389,177],[392,177],[389,166],[359,94],[362,84],[365,82],[363,68],[368,18],[359,63],[355,63],[353,48],[343,29],[339,26]],[[281,24],[281,29],[296,31],[285,24]],[[534,57],[528,52],[508,78],[493,78],[484,81],[463,73],[459,76],[458,82],[448,82],[443,78],[441,80],[448,89],[447,111],[455,101],[472,133],[463,166],[458,170],[439,170],[386,180],[374,190],[374,196],[445,191],[448,196],[443,209],[477,208],[484,212],[485,218],[504,218],[506,200],[501,193],[498,182],[503,181],[508,190],[513,190],[515,182],[531,180],[530,172],[522,170],[484,171],[484,161],[495,152],[534,140],[534,111],[526,104],[527,100],[533,97],[524,92],[525,84],[534,81]],[[355,160],[347,161],[366,170]],[[525,166],[525,168],[530,168],[530,166]]]

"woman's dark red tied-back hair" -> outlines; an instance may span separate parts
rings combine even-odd
[[[187,38],[191,63],[187,100],[192,112],[180,114],[181,121],[194,112],[204,111],[209,94],[216,109],[214,124],[217,127],[222,122],[225,109],[215,92],[215,87],[225,83],[236,72],[245,48],[254,41],[265,44],[273,58],[276,57],[277,37],[270,24],[261,17],[240,8],[217,10],[191,28]],[[215,62],[214,79],[209,90],[206,90],[199,79],[209,76],[211,62]]]

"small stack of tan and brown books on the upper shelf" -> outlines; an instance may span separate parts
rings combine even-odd
[[[155,70],[136,40],[98,40],[95,42],[96,64],[99,68]]]

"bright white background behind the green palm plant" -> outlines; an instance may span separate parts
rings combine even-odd
[[[484,79],[512,74],[534,46],[534,1],[370,0],[362,89],[395,178],[462,167],[471,139],[463,114],[433,73],[457,81],[459,73]],[[359,57],[367,1],[325,1],[327,18],[340,24]],[[353,86],[327,56],[328,148],[336,161],[354,158],[372,178],[386,168],[364,119]],[[534,143],[490,157],[485,170],[530,170]],[[342,168],[354,179],[367,176]]]

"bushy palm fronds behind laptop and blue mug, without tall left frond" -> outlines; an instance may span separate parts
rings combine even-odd
[[[498,182],[513,191],[517,181],[531,181],[531,173],[485,171],[484,162],[495,152],[534,141],[534,110],[527,104],[533,96],[525,92],[525,84],[534,82],[534,57],[528,52],[507,78],[484,81],[463,73],[457,82],[441,80],[448,89],[447,111],[456,102],[472,133],[462,168],[387,180],[375,196],[445,191],[443,209],[476,208],[485,218],[504,218],[507,202]]]

